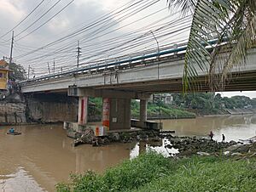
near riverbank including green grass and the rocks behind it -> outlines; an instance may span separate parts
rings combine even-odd
[[[91,171],[73,174],[71,183],[56,185],[57,191],[253,191],[256,187],[256,136],[217,142],[167,135],[162,137],[166,151],[178,153],[170,151],[169,157],[164,157],[146,147],[157,146],[161,137],[150,139],[144,134],[144,138],[133,134],[140,141],[140,150],[145,148],[143,155],[102,175]]]

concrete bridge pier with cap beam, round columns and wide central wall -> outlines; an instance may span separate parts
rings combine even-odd
[[[131,99],[141,99],[141,124],[147,121],[150,94],[93,88],[68,88],[68,95],[79,97],[79,125],[87,123],[88,97],[102,98],[102,126],[108,130],[131,128]]]

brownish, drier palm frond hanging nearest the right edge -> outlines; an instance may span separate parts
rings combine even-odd
[[[209,72],[212,89],[224,90],[234,67],[246,64],[247,50],[253,47],[256,37],[255,4],[254,0],[233,3],[233,15],[222,31],[222,37],[218,38],[221,41],[225,38],[225,43],[218,43],[212,52]]]

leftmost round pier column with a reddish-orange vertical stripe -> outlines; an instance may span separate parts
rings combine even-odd
[[[79,125],[87,123],[88,117],[88,97],[79,97]]]

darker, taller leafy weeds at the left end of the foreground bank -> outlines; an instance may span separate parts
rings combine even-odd
[[[73,175],[72,184],[57,184],[59,192],[108,192],[137,189],[160,177],[166,176],[175,167],[175,162],[162,155],[148,153],[131,161],[124,161],[117,167],[108,169],[103,175],[85,172]]]

